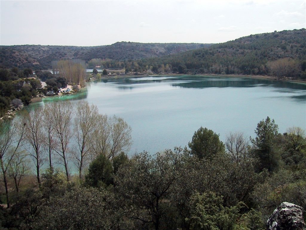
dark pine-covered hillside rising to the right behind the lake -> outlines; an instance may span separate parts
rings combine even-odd
[[[121,62],[110,64],[122,66]],[[151,69],[155,73],[269,74],[305,79],[306,30],[250,35],[209,48],[125,62],[124,65],[131,70]]]

